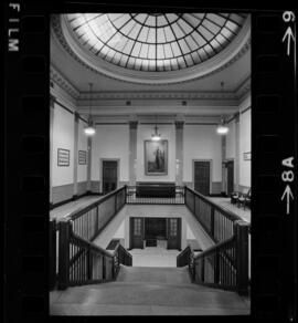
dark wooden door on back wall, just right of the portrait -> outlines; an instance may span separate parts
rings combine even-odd
[[[210,195],[210,162],[194,162],[194,190]]]

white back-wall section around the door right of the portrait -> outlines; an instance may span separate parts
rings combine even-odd
[[[183,181],[193,180],[193,159],[212,159],[212,181],[222,181],[221,136],[215,125],[184,126]]]

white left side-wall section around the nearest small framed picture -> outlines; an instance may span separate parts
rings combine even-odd
[[[54,103],[52,186],[73,184],[74,115]],[[57,166],[57,148],[71,150],[70,166]]]

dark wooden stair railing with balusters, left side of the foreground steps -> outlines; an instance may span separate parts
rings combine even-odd
[[[58,225],[60,290],[113,281],[117,278],[121,263],[132,264],[131,254],[120,243],[110,252],[75,235],[71,221],[61,221]]]

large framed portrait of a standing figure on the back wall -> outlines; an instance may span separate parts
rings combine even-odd
[[[168,175],[168,140],[145,140],[145,174]]]

